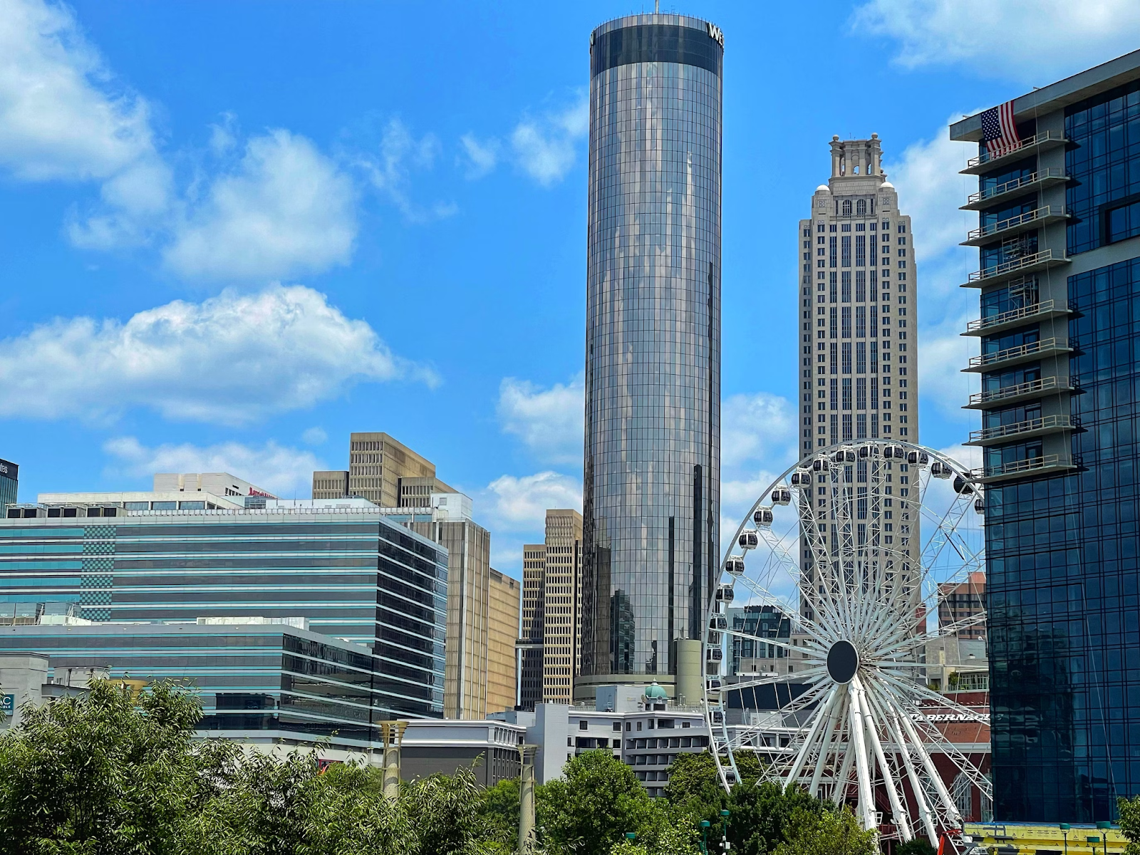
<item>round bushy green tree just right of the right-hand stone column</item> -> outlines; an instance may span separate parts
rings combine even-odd
[[[606,855],[627,831],[640,836],[659,817],[645,788],[609,751],[586,751],[562,767],[537,798],[538,828],[551,855]]]

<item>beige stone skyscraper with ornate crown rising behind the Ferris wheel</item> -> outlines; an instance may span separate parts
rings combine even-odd
[[[898,211],[898,194],[880,164],[879,135],[871,139],[831,139],[831,179],[812,197],[812,218],[799,221],[800,239],[800,451],[848,440],[897,439],[918,442],[917,282],[911,218]],[[866,492],[868,465],[846,467],[845,483],[855,495]],[[890,489],[909,491],[905,463],[888,463]],[[897,471],[896,471],[897,470]],[[824,488],[820,487],[820,494]],[[836,508],[826,496],[817,518],[831,520]],[[881,526],[885,543],[891,529],[907,524],[911,512],[883,500],[878,513],[865,508],[861,529]],[[915,514],[917,516],[917,514]],[[862,522],[862,520],[861,520]],[[848,523],[849,524],[849,523]],[[832,540],[836,540],[832,534]],[[856,538],[856,543],[862,543]],[[918,557],[921,539],[911,537]],[[877,551],[865,560],[874,561]],[[864,560],[864,559],[860,559]],[[811,575],[814,557],[803,553]],[[903,573],[903,581],[906,581]],[[805,614],[807,603],[800,604]]]

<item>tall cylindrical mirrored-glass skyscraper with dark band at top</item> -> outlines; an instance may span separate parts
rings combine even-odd
[[[579,698],[671,685],[718,563],[723,60],[684,15],[591,34]]]

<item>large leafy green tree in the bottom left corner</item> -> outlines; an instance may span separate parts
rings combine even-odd
[[[41,707],[0,736],[0,852],[177,853],[199,763],[197,700],[111,682]]]

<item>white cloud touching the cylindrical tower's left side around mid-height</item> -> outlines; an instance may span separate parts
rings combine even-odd
[[[505,377],[499,384],[498,417],[503,430],[522,439],[549,463],[581,463],[585,430],[585,378],[543,389],[526,380]]]

